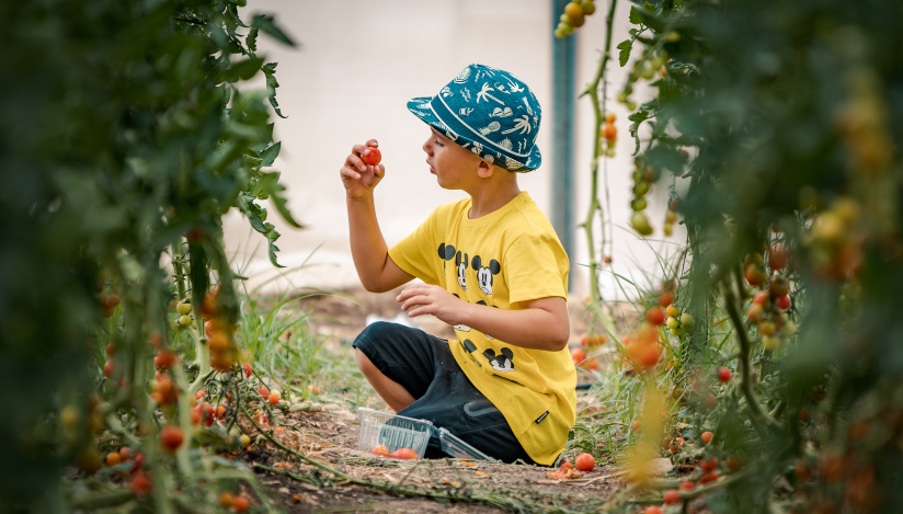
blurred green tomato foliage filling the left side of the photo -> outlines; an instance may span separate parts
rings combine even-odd
[[[155,354],[175,347],[176,329],[186,330],[171,323],[168,306],[190,296],[192,330],[203,333],[203,312],[224,334],[212,362],[206,338],[190,342],[203,351],[186,366],[190,375],[232,368],[239,312],[221,217],[239,208],[268,239],[274,263],[278,232],[258,201],[272,199],[298,226],[278,173],[263,171],[278,153],[270,108],[281,113],[276,65],[256,55],[260,33],[294,42],[270,16],[243,22],[243,4],[0,5],[8,21],[0,48],[3,509],[92,510],[150,490],[61,489],[65,466],[75,462],[83,473],[100,467],[95,437],[104,429],[118,439],[112,444],[145,454],[144,467],[132,472],[150,476],[148,510],[170,511],[172,488],[190,490],[187,445],[176,455],[180,478],[171,478],[172,459],[156,436],[164,423],[191,427],[185,398],[193,377],[181,366],[170,372],[182,414],[172,407],[161,414],[146,386],[155,379]],[[264,90],[239,89],[261,75]],[[114,353],[105,378],[101,364]],[[104,500],[92,503],[92,493]]]

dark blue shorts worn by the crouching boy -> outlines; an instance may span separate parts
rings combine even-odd
[[[499,460],[535,464],[504,415],[458,366],[448,341],[420,329],[379,321],[361,332],[354,347],[414,397],[399,415],[431,421]],[[426,457],[447,457],[437,438],[431,438]]]

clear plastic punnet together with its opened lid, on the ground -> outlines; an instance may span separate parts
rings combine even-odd
[[[357,416],[361,420],[357,448],[364,452],[373,452],[377,445],[385,445],[389,452],[399,448],[411,448],[418,454],[419,458],[423,458],[430,437],[437,437],[442,449],[450,457],[496,461],[465,443],[452,432],[445,429],[436,429],[428,421],[379,412],[363,407],[357,409]]]

